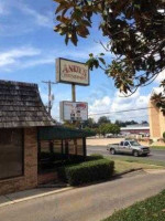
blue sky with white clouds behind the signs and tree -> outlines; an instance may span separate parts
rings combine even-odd
[[[88,39],[79,39],[78,46],[65,45],[64,38],[53,31],[56,3],[53,0],[0,0],[0,80],[38,84],[43,103],[47,103],[47,86],[42,81],[55,82],[55,60],[65,57],[86,62],[89,53],[98,54],[103,49],[98,43],[106,42],[98,30],[99,18],[94,19],[94,28]],[[111,54],[106,54],[112,60]],[[154,87],[158,86],[165,73],[147,87],[138,90],[131,97],[122,97],[101,70],[90,72],[90,86],[77,86],[77,102],[88,102],[89,117],[96,120],[98,113],[111,112],[112,122],[147,120],[147,110],[116,113],[119,110],[148,106]],[[59,102],[72,99],[72,86],[55,84],[52,115],[59,120]]]

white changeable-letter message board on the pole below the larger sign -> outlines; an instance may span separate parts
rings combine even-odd
[[[61,102],[61,119],[85,122],[88,119],[88,104],[81,102]]]

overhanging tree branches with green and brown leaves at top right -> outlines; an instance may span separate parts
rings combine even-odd
[[[121,92],[133,93],[165,69],[163,0],[54,1],[58,3],[55,31],[65,36],[66,44],[77,45],[79,36],[87,38],[90,28],[96,28],[94,15],[101,18],[98,30],[108,41],[100,43],[114,59],[107,63],[103,53],[90,53],[87,64],[91,70],[101,67]]]

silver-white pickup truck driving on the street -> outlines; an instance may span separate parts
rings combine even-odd
[[[107,150],[109,150],[111,155],[130,154],[134,157],[147,156],[150,154],[148,147],[142,146],[135,140],[124,140],[120,144],[108,145]]]

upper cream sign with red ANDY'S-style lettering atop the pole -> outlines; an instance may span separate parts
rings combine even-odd
[[[57,59],[56,82],[89,85],[89,69],[85,63]]]

